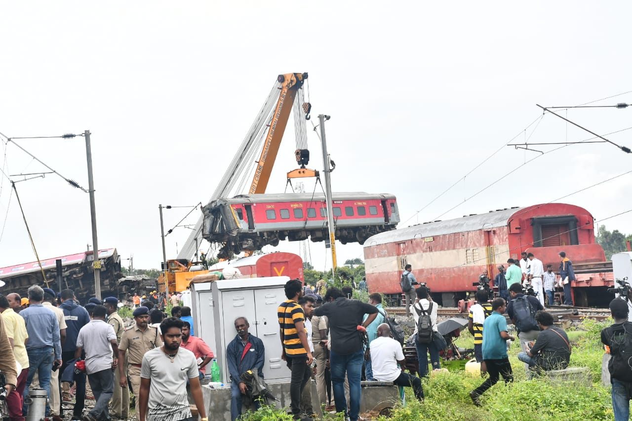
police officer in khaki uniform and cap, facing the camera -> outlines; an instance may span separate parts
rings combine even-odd
[[[162,346],[162,340],[158,329],[147,324],[149,322],[149,308],[138,307],[133,314],[136,324],[123,332],[121,345],[119,345],[119,361],[125,361],[125,351],[128,353],[128,375],[130,376],[131,389],[136,397],[136,419],[140,421],[138,403],[140,403],[140,365],[143,355],[149,350]],[[123,370],[123,364],[119,364],[119,384],[126,387],[127,378]]]

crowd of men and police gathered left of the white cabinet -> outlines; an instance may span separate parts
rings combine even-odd
[[[73,420],[126,420],[131,386],[138,421],[192,421],[188,385],[207,421],[200,378],[213,353],[191,336],[189,322],[166,317],[159,295],[135,305],[134,324],[126,329],[116,297],[90,298],[82,306],[69,289],[56,294],[33,285],[27,294],[0,295],[0,371],[9,420],[25,420],[34,387],[46,391],[46,416],[53,421],[64,418],[64,406],[72,407]],[[85,412],[87,393],[95,404]]]

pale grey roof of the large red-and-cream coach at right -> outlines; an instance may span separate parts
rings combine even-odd
[[[379,233],[368,238],[364,247],[394,243],[398,241],[412,240],[413,238],[426,238],[435,235],[462,233],[466,231],[478,231],[479,229],[499,228],[507,226],[511,216],[527,209],[526,207],[514,207],[513,209],[497,210],[487,214],[464,216],[456,219],[447,219],[427,224],[416,224],[408,228],[399,228],[386,233]]]

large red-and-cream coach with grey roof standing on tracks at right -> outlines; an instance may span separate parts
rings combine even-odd
[[[514,207],[380,233],[365,241],[364,257],[370,292],[399,297],[401,273],[410,264],[433,298],[450,307],[476,290],[472,284],[483,269],[493,280],[497,266],[507,267],[509,257],[532,252],[557,272],[562,250],[576,268],[574,302],[589,305],[596,296],[579,287],[599,287],[605,293],[612,285],[612,265],[595,243],[592,215],[575,205]]]

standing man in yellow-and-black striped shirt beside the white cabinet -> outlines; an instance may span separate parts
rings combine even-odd
[[[299,279],[292,279],[285,284],[285,300],[279,308],[279,328],[283,358],[292,372],[290,380],[290,406],[295,420],[301,419],[301,393],[310,379],[313,357],[305,331],[305,314],[298,304],[303,296],[303,285]],[[308,418],[311,419],[311,418]]]

